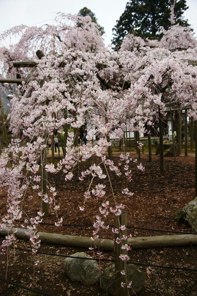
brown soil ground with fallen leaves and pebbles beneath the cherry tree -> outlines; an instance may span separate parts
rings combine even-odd
[[[137,158],[137,154],[133,154]],[[190,200],[195,197],[195,157],[180,156],[174,162],[173,158],[166,157],[164,159],[165,171],[160,172],[159,157],[153,156],[151,163],[148,162],[148,155],[141,155],[141,162],[145,166],[145,173],[137,170],[135,165],[132,167],[133,181],[128,183],[124,176],[117,177],[113,175],[112,183],[116,195],[117,203],[122,202],[127,206],[127,220],[128,225],[134,227],[153,228],[162,230],[187,231],[191,229],[188,224],[177,223],[175,212],[182,209]],[[114,162],[119,160],[119,155],[113,158]],[[58,161],[58,160],[56,160]],[[49,159],[50,162],[50,159]],[[57,204],[60,205],[58,216],[63,218],[63,223],[70,224],[92,224],[97,215],[98,207],[101,200],[89,200],[85,204],[85,211],[79,211],[79,206],[83,206],[83,194],[89,186],[88,178],[85,181],[78,181],[78,172],[83,169],[84,163],[80,164],[80,168],[76,168],[77,172],[74,179],[71,181],[64,181],[62,173],[56,175],[49,175],[49,181],[57,189]],[[112,174],[111,174],[112,175]],[[96,183],[93,183],[95,185]],[[93,185],[91,189],[93,189]],[[108,185],[106,185],[107,187]],[[133,197],[123,195],[122,189],[128,188],[129,191],[134,192]],[[110,194],[109,187],[106,192]],[[1,192],[2,199],[0,208],[2,210],[1,216],[6,211],[6,190]],[[34,196],[32,200],[28,200],[24,204],[26,213],[31,213],[31,216],[37,215],[40,210],[41,200]],[[44,219],[46,223],[56,222],[56,215],[52,211],[49,218]],[[109,215],[106,223],[113,224],[113,216]],[[17,225],[17,224],[16,224]],[[166,235],[159,231],[137,230],[129,229],[132,236],[156,236]],[[91,236],[92,227],[66,227],[56,228],[55,226],[41,225],[39,231],[55,232],[61,234],[72,234],[81,236]],[[103,232],[103,238],[113,239],[111,231]],[[22,240],[17,240],[18,247],[25,247],[30,249],[30,244]],[[57,252],[59,250],[59,252]],[[75,247],[64,247],[59,245],[44,245],[41,244],[40,252],[48,252],[60,255],[70,255],[77,251],[85,251],[91,255],[88,249],[81,249]],[[197,268],[196,247],[166,247],[156,249],[132,250],[130,258],[132,262],[154,264],[154,265],[169,265],[175,267]],[[113,252],[104,253],[106,258],[113,259]],[[7,279],[15,281],[18,284],[30,287],[33,281],[33,254],[27,251],[17,250],[14,261],[14,253],[9,253]],[[64,258],[55,257],[43,254],[37,254],[36,260],[40,263],[35,267],[35,284],[34,288],[42,290],[49,294],[59,295],[106,295],[98,285],[92,287],[85,287],[79,283],[72,283],[64,274],[62,270],[62,262]],[[6,277],[7,255],[0,256],[1,263],[1,277]],[[57,265],[60,262],[60,265]],[[59,263],[58,263],[59,264]],[[16,268],[17,266],[17,268]],[[108,265],[101,263],[101,271]],[[139,267],[140,268],[140,267]],[[141,270],[146,272],[146,267],[141,266]],[[49,272],[46,276],[44,272]],[[63,289],[64,288],[64,289]],[[29,294],[31,292],[20,289],[18,287],[9,287],[8,284],[4,286],[0,282],[0,295],[35,295]],[[146,276],[146,282],[143,289],[138,293],[139,296],[144,295],[196,295],[196,272],[172,270],[166,268],[152,268],[151,273]]]

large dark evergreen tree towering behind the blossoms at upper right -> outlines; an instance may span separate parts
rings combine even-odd
[[[130,0],[127,2],[125,11],[120,19],[116,21],[113,28],[114,38],[112,44],[116,49],[120,48],[127,33],[137,33],[138,36],[150,39],[161,38],[159,29],[168,29],[171,25],[170,7],[174,0]],[[186,0],[179,0],[175,3],[175,23],[188,26],[188,20],[183,19],[184,11],[188,9]]]

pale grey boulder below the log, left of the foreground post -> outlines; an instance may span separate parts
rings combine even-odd
[[[91,258],[84,252],[77,252],[73,257]],[[71,281],[80,281],[86,286],[93,285],[99,281],[99,268],[94,260],[77,258],[66,258],[63,262],[63,269]]]

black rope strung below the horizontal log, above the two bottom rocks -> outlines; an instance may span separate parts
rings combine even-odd
[[[10,247],[11,249],[14,249],[14,247]],[[25,249],[22,248],[15,248],[15,250],[21,250],[24,251]],[[31,250],[25,250],[27,252],[32,252]],[[76,258],[76,259],[83,259],[83,260],[95,260],[95,261],[108,261],[108,262],[114,262],[114,259],[102,259],[102,258],[84,258],[84,257],[75,257],[75,256],[69,256],[69,255],[60,255],[60,254],[53,254],[53,253],[46,253],[46,252],[39,252],[38,254],[43,255],[50,255],[50,256],[57,256],[57,257],[64,257],[64,258]],[[177,269],[177,270],[187,270],[187,271],[195,271],[197,272],[197,269],[194,268],[187,268],[187,267],[173,267],[173,266],[162,266],[162,265],[153,265],[153,264],[144,264],[144,263],[135,263],[128,261],[127,264],[133,264],[133,265],[139,265],[139,266],[151,266],[151,267],[158,267],[158,268],[169,268],[169,269]]]

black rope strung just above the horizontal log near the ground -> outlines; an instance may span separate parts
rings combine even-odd
[[[19,221],[15,220],[16,222],[25,222],[25,221]],[[30,222],[28,222],[30,223]],[[41,225],[52,225],[54,226],[54,223],[44,223],[40,222]],[[92,224],[62,224],[62,226],[77,226],[77,227],[93,227]],[[110,227],[114,227],[113,224],[109,225]],[[158,231],[158,232],[170,232],[170,233],[179,233],[179,234],[197,234],[196,232],[185,232],[185,231],[173,231],[173,230],[162,230],[162,229],[154,229],[154,228],[144,228],[144,227],[136,227],[136,226],[130,226],[127,225],[127,228],[133,228],[133,229],[141,229],[141,230],[150,230],[150,231]]]

